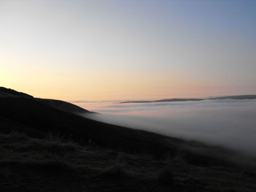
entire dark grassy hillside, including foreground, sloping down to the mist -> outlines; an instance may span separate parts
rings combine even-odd
[[[0,191],[255,191],[254,169],[217,157],[230,151],[81,118],[76,110],[0,89]]]

